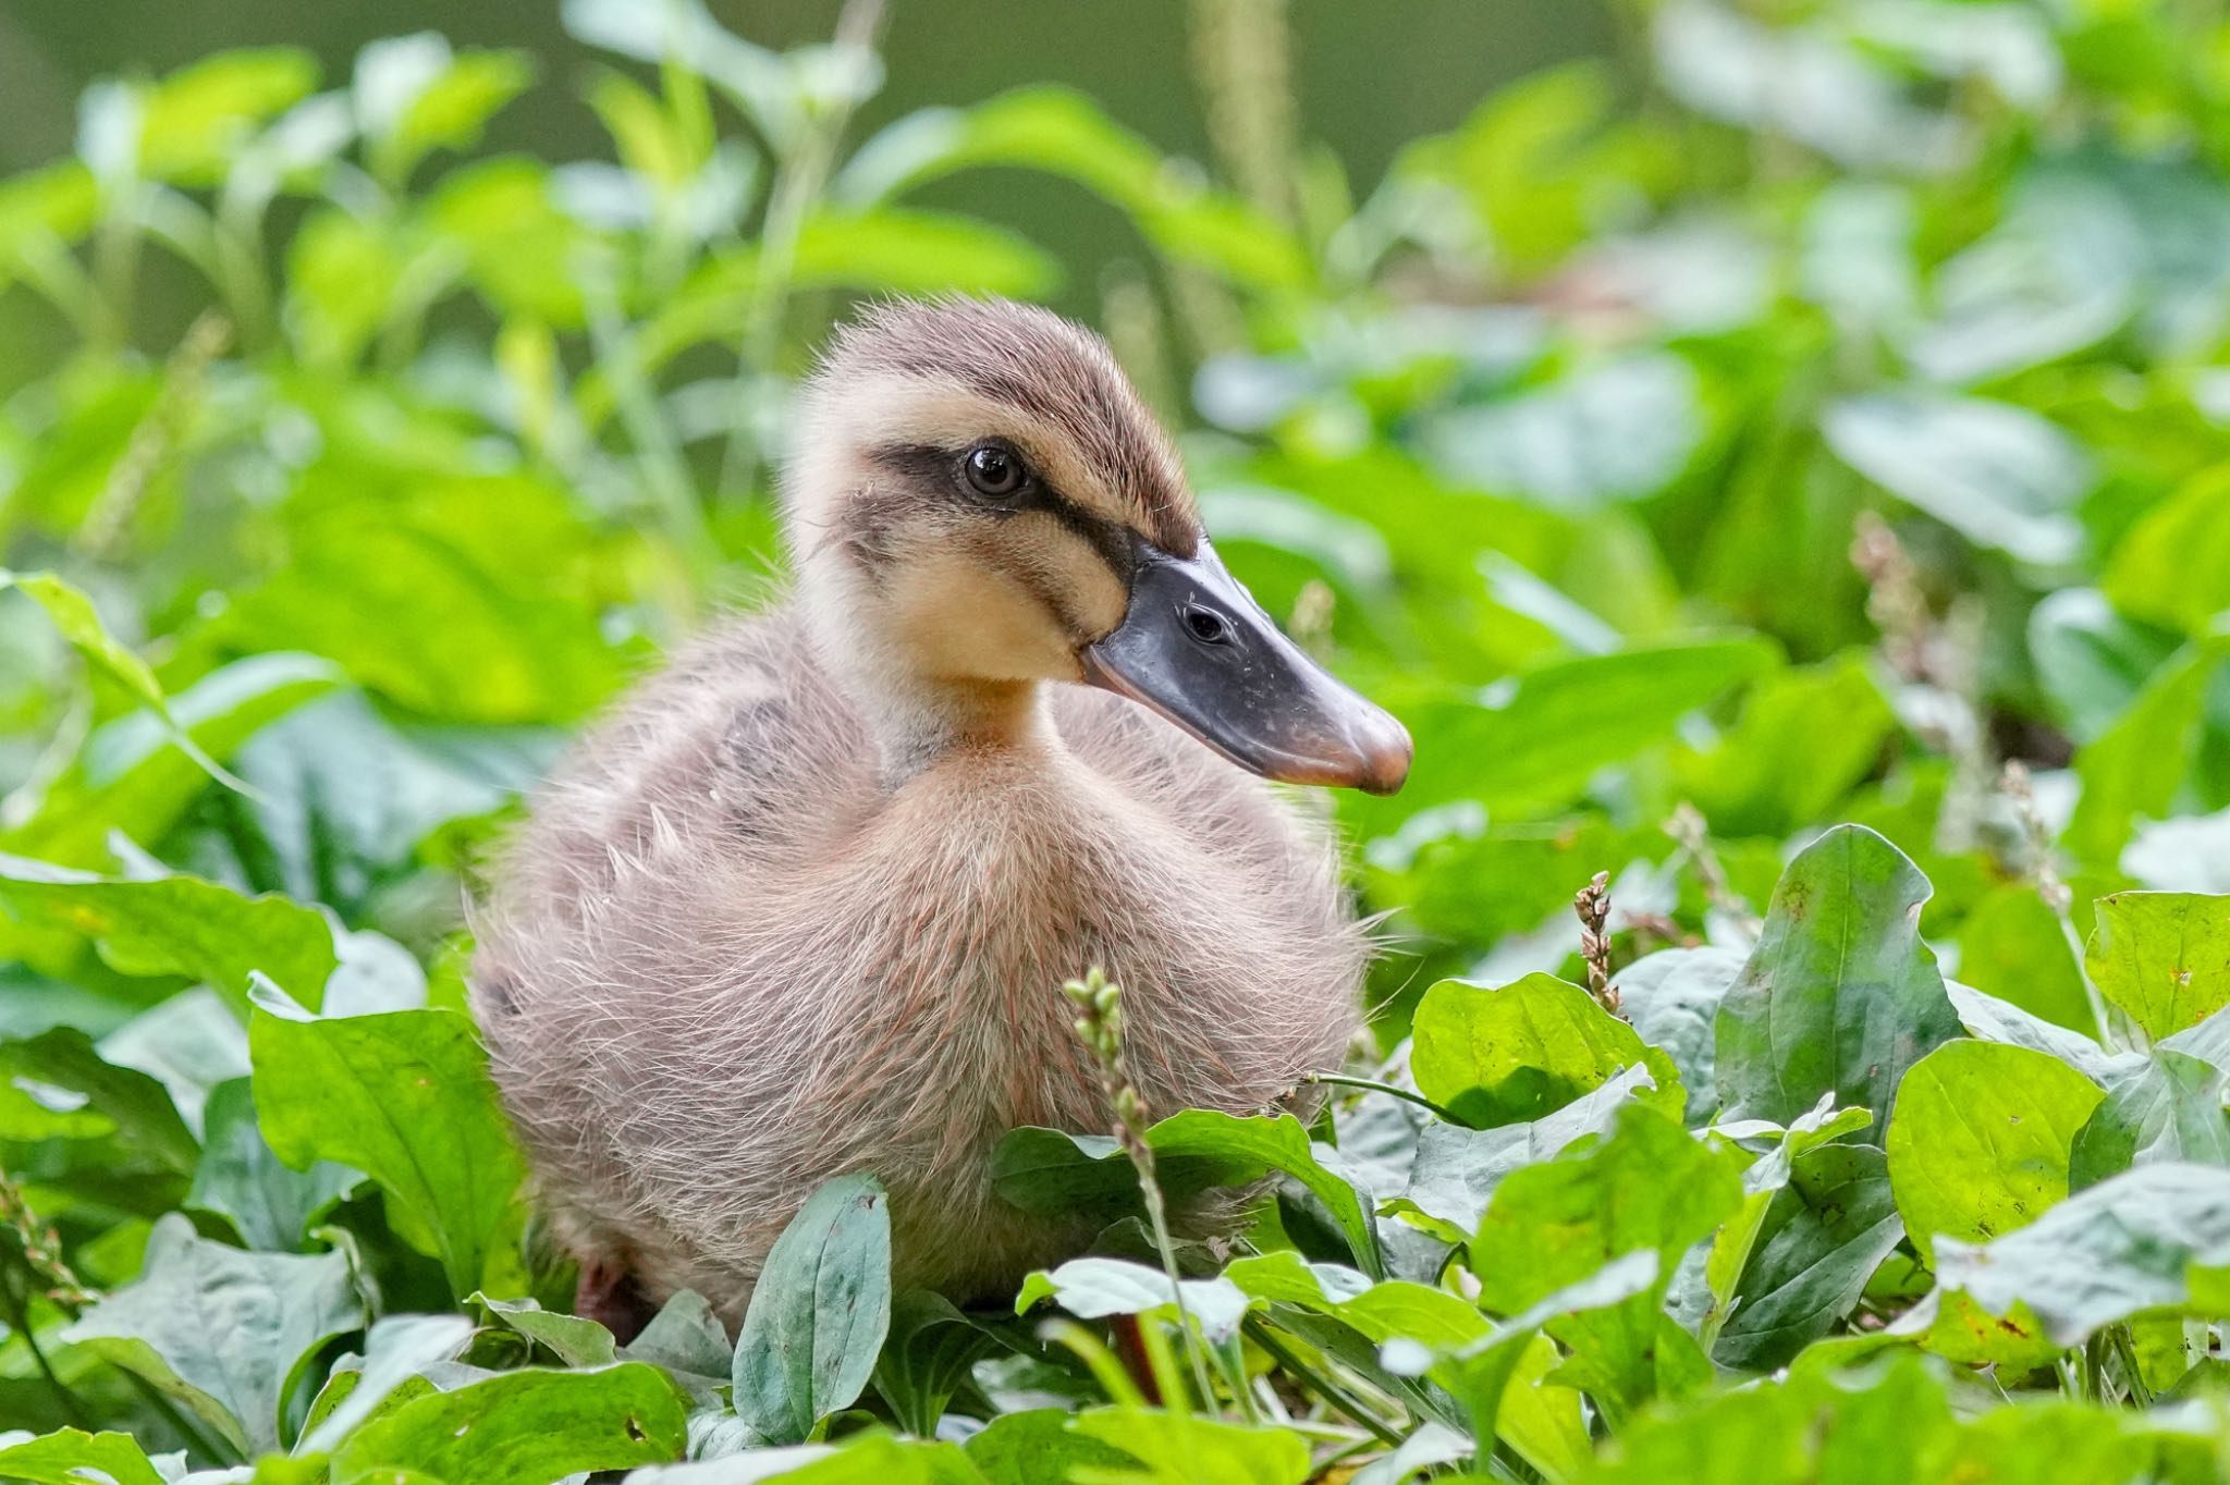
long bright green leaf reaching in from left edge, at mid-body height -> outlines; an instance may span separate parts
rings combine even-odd
[[[194,876],[120,879],[0,856],[0,910],[25,930],[91,939],[118,974],[183,974],[248,1008],[263,972],[317,1008],[339,957],[332,928],[283,896],[241,896]]]

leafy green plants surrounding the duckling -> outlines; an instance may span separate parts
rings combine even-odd
[[[553,82],[413,36],[103,85],[0,183],[60,346],[0,372],[0,1478],[2230,1478],[2219,4],[1635,4],[1369,190],[1276,69],[1204,67],[1215,185],[1068,91],[854,138],[863,36],[566,16],[609,161],[479,156]],[[462,887],[765,582],[843,301],[1059,288],[919,203],[981,169],[1131,223],[1099,319],[1222,551],[1416,734],[1340,800],[1378,1057],[1017,1130],[1008,1200],[1106,1213],[1017,1313],[892,1293],[859,1177],[740,1338],[618,1347]],[[1140,1171],[1269,1193],[1169,1249]]]

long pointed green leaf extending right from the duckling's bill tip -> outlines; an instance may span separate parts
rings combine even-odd
[[[1755,638],[1648,644],[1615,656],[1557,660],[1403,714],[1416,767],[1378,814],[1476,798],[1490,809],[1559,805],[1597,769],[1672,736],[1675,722],[1775,662]],[[1586,885],[1586,876],[1572,890]]]

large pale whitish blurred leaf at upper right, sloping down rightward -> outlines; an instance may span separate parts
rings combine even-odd
[[[1844,464],[1969,542],[2040,566],[2083,551],[2074,506],[2098,470],[2081,444],[2027,408],[1869,392],[1831,404],[1820,430]]]

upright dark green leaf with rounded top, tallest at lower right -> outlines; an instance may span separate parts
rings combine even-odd
[[[1822,834],[1782,874],[1764,932],[1717,1023],[1726,1119],[1788,1124],[1833,1093],[1889,1106],[1904,1070],[1960,1035],[1920,943],[1929,879],[1860,825]]]

